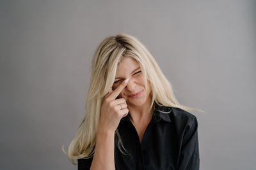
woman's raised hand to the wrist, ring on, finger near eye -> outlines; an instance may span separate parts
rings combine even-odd
[[[127,85],[128,79],[124,80],[114,91],[111,89],[104,97],[101,106],[100,122],[98,131],[115,132],[121,118],[125,117],[129,110],[124,98],[116,99]]]

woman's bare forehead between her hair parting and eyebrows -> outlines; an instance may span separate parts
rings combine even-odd
[[[120,72],[133,71],[134,69],[140,67],[139,62],[132,57],[123,57],[118,63],[116,68],[116,74]]]

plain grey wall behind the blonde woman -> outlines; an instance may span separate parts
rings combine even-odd
[[[77,169],[61,152],[84,115],[102,39],[136,36],[200,108],[200,169],[255,169],[255,1],[1,1],[0,169]]]

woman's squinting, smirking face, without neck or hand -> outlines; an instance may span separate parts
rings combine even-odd
[[[132,57],[123,57],[118,63],[116,77],[113,84],[113,90],[120,85],[122,81],[129,78],[126,87],[119,94],[119,98],[124,98],[129,106],[142,106],[147,101],[150,94],[150,84],[145,84],[140,64]],[[146,86],[148,86],[146,91]],[[137,94],[136,96],[132,96]]]

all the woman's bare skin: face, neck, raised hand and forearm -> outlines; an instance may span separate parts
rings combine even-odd
[[[137,69],[139,67],[139,69]],[[136,71],[134,71],[137,69]],[[134,71],[132,73],[132,71]],[[140,142],[152,118],[150,106],[150,86],[145,87],[140,64],[131,57],[124,57],[118,64],[116,80],[112,89],[104,97],[101,106],[99,127],[95,153],[90,169],[115,169],[115,130],[121,118],[127,116],[138,132]],[[128,80],[125,83],[125,80]],[[131,94],[141,92],[139,97],[130,97]]]

